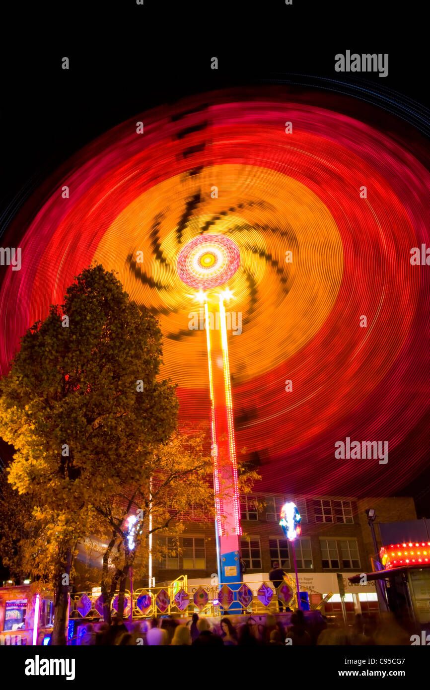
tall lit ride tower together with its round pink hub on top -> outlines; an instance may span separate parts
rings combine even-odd
[[[236,273],[239,264],[239,248],[225,235],[199,235],[182,248],[177,259],[180,279],[198,290],[194,297],[201,304],[204,303],[211,393],[218,578],[220,584],[228,584],[231,589],[238,589],[242,580],[239,552],[242,530],[224,308],[224,297],[231,296],[231,293],[223,288]]]

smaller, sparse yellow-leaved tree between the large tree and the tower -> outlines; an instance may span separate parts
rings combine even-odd
[[[117,587],[118,615],[123,615],[126,579],[130,569],[135,569],[135,563],[139,564],[137,575],[147,574],[150,534],[181,534],[190,513],[195,522],[208,522],[214,517],[213,462],[209,447],[204,432],[192,437],[175,433],[168,442],[157,447],[141,468],[140,484],[128,483],[118,491],[113,504],[105,501],[95,507],[101,516],[101,525],[110,526],[101,573],[106,622],[110,622],[110,604]],[[248,493],[259,475],[240,460],[238,465],[240,492]],[[230,493],[233,486],[224,485],[222,491]],[[133,548],[130,548],[130,540]],[[165,558],[167,546],[155,543],[152,553],[154,559]],[[170,555],[175,556],[174,553]],[[115,564],[113,571],[109,568],[111,563]]]

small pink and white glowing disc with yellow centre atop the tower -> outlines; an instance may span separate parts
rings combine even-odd
[[[197,290],[224,285],[235,275],[240,250],[225,235],[202,235],[187,242],[177,258],[179,278]]]

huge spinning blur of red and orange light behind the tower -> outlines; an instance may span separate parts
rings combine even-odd
[[[329,92],[235,90],[139,115],[144,135],[136,118],[106,132],[2,239],[22,250],[21,270],[3,269],[2,373],[97,261],[159,319],[161,375],[192,430],[211,410],[199,313],[228,288],[236,446],[260,464],[258,489],[392,495],[428,462],[430,270],[410,256],[430,246],[430,152],[375,115]],[[389,442],[388,464],[336,458],[346,437]]]

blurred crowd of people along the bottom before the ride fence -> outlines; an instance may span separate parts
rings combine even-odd
[[[243,620],[243,619],[242,619]],[[174,618],[153,618],[128,624],[114,618],[112,624],[102,623],[97,631],[92,623],[86,625],[81,636],[81,645],[145,645],[159,647],[195,646],[306,646],[317,645],[380,645],[411,644],[409,633],[395,622],[391,614],[373,616],[358,614],[351,627],[342,627],[337,622],[322,619],[320,625],[306,621],[303,611],[292,613],[289,624],[283,624],[274,615],[268,614],[264,623],[250,618],[248,622],[234,624],[224,617],[219,624],[212,624],[207,618],[193,618],[187,623]]]

